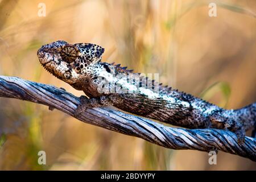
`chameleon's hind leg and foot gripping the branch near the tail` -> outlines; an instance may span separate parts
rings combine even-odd
[[[245,141],[245,129],[243,129],[243,126],[240,122],[226,118],[219,113],[214,113],[211,115],[210,122],[217,129],[226,129],[235,133],[237,135],[238,143],[243,144]]]

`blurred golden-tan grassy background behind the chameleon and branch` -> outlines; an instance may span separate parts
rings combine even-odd
[[[216,3],[217,16],[208,15]],[[45,16],[44,16],[45,7]],[[103,60],[159,80],[226,109],[256,101],[256,1],[0,0],[0,75],[65,88],[36,51],[56,40],[95,43]],[[248,133],[250,134],[250,133]],[[46,165],[38,151],[46,151]],[[78,121],[47,106],[0,98],[1,170],[256,170],[219,152],[170,150]]]

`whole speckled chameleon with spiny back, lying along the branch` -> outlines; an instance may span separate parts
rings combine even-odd
[[[103,53],[104,48],[96,44],[69,44],[62,40],[38,50],[39,61],[48,72],[89,97],[80,97],[75,115],[91,107],[112,105],[189,129],[230,130],[236,133],[238,142],[243,142],[245,130],[255,126],[256,103],[237,110],[222,109],[191,94],[162,86],[120,64],[102,63]]]

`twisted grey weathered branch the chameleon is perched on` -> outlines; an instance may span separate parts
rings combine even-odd
[[[0,97],[18,98],[56,108],[74,117],[79,98],[55,86],[17,77],[0,76]],[[82,122],[131,135],[176,150],[220,150],[256,161],[256,139],[237,142],[236,134],[217,129],[180,129],[164,126],[108,107],[88,109],[79,117]]]

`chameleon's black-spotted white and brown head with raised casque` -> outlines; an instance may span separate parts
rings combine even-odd
[[[73,85],[92,73],[103,53],[104,48],[96,44],[68,44],[59,40],[42,46],[38,50],[38,58],[48,72]]]

